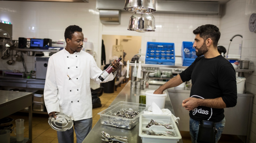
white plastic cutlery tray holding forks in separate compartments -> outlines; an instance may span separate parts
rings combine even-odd
[[[167,129],[164,126],[157,126],[152,125],[149,128],[146,128],[148,123],[152,120],[155,120],[156,122],[160,124],[171,124],[170,126],[173,127],[173,129]],[[140,115],[140,126],[139,126],[139,136],[142,138],[142,143],[177,143],[179,139],[181,139],[180,132],[178,130],[178,127],[170,115],[152,115],[152,114],[141,114]],[[143,134],[142,131],[154,131],[156,134],[160,133],[166,133],[165,131],[171,131],[173,132],[174,136],[155,136],[155,135],[147,135]]]

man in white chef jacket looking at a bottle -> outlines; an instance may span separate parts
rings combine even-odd
[[[94,58],[82,50],[83,32],[76,25],[68,26],[64,33],[67,46],[53,54],[48,61],[45,79],[44,100],[49,116],[60,112],[74,120],[77,143],[82,142],[92,128],[92,98],[90,79],[100,84],[98,78],[102,70],[96,65]],[[112,62],[113,74],[103,82],[116,76],[119,62]],[[57,131],[61,143],[74,142],[73,128]]]

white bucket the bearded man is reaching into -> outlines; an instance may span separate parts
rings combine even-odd
[[[154,101],[156,105],[163,109],[165,107],[165,98],[167,97],[166,92],[163,94],[153,94],[155,90],[146,91],[146,105],[150,105],[148,110],[152,111],[152,102]]]

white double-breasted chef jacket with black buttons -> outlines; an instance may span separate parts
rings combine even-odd
[[[102,70],[94,58],[85,51],[70,54],[65,47],[53,54],[48,61],[45,79],[44,100],[48,114],[61,112],[74,121],[92,117],[92,98],[90,79],[100,84],[98,78]],[[109,74],[103,81],[114,79]]]

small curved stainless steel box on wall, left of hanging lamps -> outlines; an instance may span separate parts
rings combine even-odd
[[[121,11],[100,9],[100,22],[102,24],[120,24]]]

